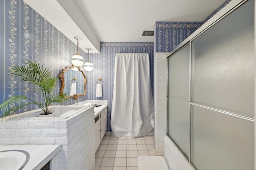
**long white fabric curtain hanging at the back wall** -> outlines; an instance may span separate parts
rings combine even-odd
[[[153,134],[148,54],[116,54],[111,129],[114,137]]]

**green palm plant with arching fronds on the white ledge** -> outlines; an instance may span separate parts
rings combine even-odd
[[[36,104],[40,109],[42,109],[43,114],[47,115],[51,113],[48,108],[51,103],[63,103],[66,100],[66,94],[53,93],[56,88],[56,81],[58,78],[52,76],[51,71],[47,67],[44,68],[43,65],[40,66],[39,63],[25,60],[24,65],[15,65],[10,69],[9,75],[14,76],[15,78],[18,77],[20,82],[28,82],[29,84],[36,85],[42,94],[43,101],[40,103],[28,98],[27,96],[12,96],[0,105],[3,117],[13,115],[18,109],[30,104]]]

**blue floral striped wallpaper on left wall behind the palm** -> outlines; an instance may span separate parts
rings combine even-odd
[[[20,83],[8,75],[10,67],[29,59],[47,66],[54,76],[58,76],[62,68],[71,65],[70,59],[74,53],[76,44],[24,1],[0,0],[0,103],[14,95],[25,95],[41,101],[36,87]],[[86,56],[82,50],[80,54]],[[59,90],[60,81],[56,84],[56,93]],[[79,98],[80,101],[85,99],[86,96]],[[70,99],[65,105],[74,102],[74,99]],[[29,105],[20,112],[36,108]]]

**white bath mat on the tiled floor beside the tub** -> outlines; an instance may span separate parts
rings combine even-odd
[[[139,170],[169,170],[163,156],[139,156]]]

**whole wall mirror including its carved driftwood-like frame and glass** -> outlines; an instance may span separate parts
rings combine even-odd
[[[86,94],[87,78],[80,66],[66,66],[62,69],[59,78],[61,80],[60,94],[68,93],[66,98],[78,99]]]

